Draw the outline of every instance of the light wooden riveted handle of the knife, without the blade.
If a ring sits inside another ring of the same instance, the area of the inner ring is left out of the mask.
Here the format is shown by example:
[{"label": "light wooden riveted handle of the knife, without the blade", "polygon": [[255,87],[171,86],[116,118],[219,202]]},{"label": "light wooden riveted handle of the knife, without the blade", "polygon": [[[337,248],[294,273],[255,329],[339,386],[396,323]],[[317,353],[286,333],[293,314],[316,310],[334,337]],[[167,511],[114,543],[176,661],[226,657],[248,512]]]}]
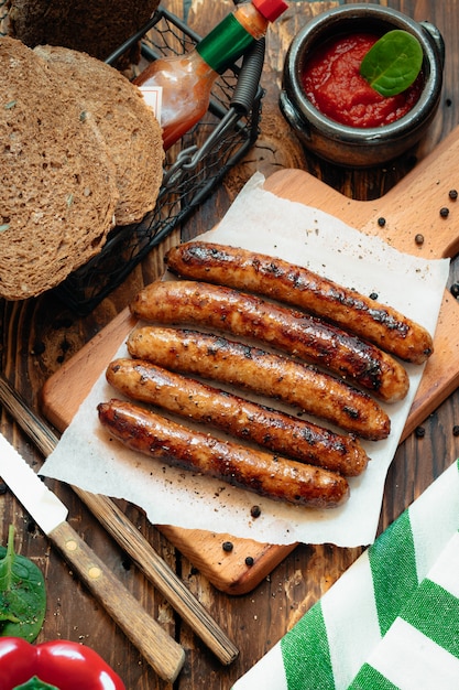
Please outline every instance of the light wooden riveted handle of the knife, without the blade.
[{"label": "light wooden riveted handle of the knife, without the blade", "polygon": [[174,682],[185,661],[183,647],[145,612],[68,522],[47,536],[156,673]]}]

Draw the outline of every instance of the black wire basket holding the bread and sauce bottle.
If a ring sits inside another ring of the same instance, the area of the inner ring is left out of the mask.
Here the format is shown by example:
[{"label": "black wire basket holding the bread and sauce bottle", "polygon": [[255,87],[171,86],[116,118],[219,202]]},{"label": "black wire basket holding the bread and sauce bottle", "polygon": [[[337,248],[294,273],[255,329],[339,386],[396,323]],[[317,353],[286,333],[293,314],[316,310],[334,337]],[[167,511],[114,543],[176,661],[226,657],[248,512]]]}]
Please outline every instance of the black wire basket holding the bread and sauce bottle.
[{"label": "black wire basket holding the bread and sauce bottle", "polygon": [[[107,62],[116,64],[139,41],[142,60],[152,62],[163,55],[189,52],[199,40],[184,22],[160,8]],[[207,115],[166,153],[155,208],[140,223],[113,228],[102,251],[53,290],[72,311],[86,315],[110,294],[153,247],[210,196],[252,148],[259,136],[263,61],[261,40],[240,64],[217,79]]]}]

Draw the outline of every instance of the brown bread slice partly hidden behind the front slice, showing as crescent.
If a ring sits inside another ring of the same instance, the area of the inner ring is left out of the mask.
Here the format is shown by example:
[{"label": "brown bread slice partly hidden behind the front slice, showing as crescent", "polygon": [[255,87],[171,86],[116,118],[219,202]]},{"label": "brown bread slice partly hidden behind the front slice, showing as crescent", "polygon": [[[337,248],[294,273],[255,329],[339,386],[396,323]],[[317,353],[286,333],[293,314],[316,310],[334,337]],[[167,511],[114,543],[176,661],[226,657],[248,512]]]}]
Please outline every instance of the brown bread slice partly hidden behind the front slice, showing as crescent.
[{"label": "brown bread slice partly hidden behind the front slice, showing as crescent", "polygon": [[160,123],[140,89],[117,69],[87,53],[39,45],[65,90],[91,112],[117,168],[117,225],[141,220],[156,203],[163,179]]}]

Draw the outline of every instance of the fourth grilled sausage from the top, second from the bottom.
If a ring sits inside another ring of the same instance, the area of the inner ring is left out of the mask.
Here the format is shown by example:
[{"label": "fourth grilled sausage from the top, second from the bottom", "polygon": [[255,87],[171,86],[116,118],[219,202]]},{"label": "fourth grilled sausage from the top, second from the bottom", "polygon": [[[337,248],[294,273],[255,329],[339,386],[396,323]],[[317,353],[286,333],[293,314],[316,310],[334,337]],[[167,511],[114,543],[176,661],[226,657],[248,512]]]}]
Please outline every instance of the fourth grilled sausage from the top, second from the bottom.
[{"label": "fourth grilled sausage from the top, second from the bottom", "polygon": [[345,476],[357,476],[367,467],[368,455],[352,435],[334,433],[149,362],[114,359],[106,375],[128,398],[209,424],[280,455]]}]

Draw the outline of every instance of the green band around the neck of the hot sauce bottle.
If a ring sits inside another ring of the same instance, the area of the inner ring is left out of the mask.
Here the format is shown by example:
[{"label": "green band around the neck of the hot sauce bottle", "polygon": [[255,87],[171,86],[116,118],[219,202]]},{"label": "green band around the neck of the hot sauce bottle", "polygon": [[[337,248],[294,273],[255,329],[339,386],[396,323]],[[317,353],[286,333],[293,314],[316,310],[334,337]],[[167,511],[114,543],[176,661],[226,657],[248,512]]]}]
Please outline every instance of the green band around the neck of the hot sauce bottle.
[{"label": "green band around the neck of the hot sauce bottle", "polygon": [[254,37],[229,14],[196,46],[201,58],[215,72],[222,73],[253,43]]}]

